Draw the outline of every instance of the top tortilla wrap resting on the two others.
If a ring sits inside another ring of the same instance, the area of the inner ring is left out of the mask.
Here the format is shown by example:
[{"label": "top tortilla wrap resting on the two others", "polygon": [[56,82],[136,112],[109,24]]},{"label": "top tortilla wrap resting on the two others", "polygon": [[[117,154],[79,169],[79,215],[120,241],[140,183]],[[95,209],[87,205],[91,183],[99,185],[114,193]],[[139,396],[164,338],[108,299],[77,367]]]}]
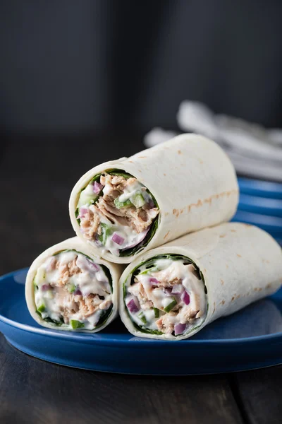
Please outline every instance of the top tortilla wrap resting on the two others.
[{"label": "top tortilla wrap resting on the two others", "polygon": [[[118,173],[127,182],[115,191]],[[230,220],[237,204],[238,182],[226,153],[203,136],[183,134],[94,167],[75,184],[69,209],[91,252],[126,264],[142,250]]]}]

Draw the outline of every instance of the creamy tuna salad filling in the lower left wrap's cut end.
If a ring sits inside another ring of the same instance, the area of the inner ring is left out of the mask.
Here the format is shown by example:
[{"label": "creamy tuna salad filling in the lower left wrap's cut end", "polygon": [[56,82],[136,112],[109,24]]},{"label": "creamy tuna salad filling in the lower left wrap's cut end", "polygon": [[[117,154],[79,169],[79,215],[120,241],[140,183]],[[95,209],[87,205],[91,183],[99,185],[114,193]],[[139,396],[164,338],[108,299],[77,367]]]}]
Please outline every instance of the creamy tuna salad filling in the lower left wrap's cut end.
[{"label": "creamy tuna salad filling in the lower left wrap's cut end", "polygon": [[34,278],[37,314],[70,329],[93,330],[113,308],[111,275],[106,266],[75,250],[44,261]]}]

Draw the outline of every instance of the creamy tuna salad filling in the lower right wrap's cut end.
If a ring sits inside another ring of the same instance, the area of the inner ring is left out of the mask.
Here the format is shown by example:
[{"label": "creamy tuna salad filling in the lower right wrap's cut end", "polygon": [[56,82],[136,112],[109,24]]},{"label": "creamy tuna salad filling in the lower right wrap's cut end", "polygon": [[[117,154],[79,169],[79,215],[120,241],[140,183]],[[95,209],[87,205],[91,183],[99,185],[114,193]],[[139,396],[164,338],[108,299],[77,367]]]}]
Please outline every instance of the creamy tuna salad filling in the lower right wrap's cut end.
[{"label": "creamy tuna salad filling in the lower right wrap's cut end", "polygon": [[161,255],[138,266],[123,285],[125,307],[142,332],[182,336],[207,315],[207,289],[186,257]]}]

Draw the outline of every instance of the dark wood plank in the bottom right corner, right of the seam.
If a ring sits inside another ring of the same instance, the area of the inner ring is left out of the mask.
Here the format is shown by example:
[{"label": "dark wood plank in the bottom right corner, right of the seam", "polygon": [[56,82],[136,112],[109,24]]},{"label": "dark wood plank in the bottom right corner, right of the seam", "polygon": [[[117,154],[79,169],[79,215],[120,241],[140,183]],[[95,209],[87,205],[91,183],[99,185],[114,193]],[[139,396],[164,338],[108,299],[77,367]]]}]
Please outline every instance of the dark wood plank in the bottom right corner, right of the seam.
[{"label": "dark wood plank in the bottom right corner, right of the seam", "polygon": [[233,376],[235,398],[250,424],[282,423],[282,365]]}]

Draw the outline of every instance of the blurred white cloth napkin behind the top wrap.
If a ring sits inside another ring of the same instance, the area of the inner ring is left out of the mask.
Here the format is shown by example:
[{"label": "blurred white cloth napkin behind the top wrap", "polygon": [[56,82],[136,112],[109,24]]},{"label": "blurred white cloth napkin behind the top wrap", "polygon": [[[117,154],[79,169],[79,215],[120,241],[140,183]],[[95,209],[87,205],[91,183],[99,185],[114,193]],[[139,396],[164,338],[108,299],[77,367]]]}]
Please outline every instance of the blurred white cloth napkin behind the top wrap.
[{"label": "blurred white cloth napkin behind the top wrap", "polygon": [[[282,129],[265,129],[243,119],[214,114],[206,105],[190,100],[180,104],[177,122],[180,130],[203,134],[219,143],[240,175],[282,182]],[[175,135],[152,129],[145,136],[145,146]]]}]

